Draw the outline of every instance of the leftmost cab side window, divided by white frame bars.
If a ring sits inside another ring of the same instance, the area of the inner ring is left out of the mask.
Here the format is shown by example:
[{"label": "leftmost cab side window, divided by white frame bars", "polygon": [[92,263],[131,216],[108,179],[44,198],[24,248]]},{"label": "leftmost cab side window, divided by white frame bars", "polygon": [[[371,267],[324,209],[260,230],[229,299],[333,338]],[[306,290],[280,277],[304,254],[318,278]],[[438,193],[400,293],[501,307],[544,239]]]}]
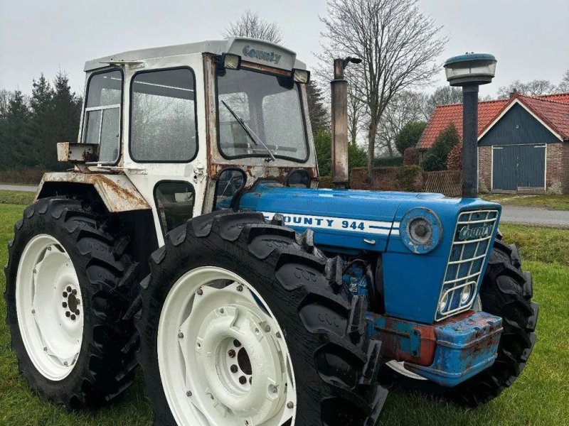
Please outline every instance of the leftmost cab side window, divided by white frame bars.
[{"label": "leftmost cab side window, divided by white frame bars", "polygon": [[122,73],[118,70],[93,75],[87,87],[83,142],[99,145],[99,161],[115,163],[120,151]]}]

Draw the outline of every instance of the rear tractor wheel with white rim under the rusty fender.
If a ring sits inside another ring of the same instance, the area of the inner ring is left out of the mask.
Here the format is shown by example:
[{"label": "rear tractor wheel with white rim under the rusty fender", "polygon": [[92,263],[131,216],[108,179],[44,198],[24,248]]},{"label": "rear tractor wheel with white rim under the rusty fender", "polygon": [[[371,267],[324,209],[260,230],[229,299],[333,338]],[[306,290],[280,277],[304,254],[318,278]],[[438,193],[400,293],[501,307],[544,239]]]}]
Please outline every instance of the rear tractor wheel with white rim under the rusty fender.
[{"label": "rear tractor wheel with white rim under the rusty fender", "polygon": [[50,197],[23,212],[8,246],[6,323],[31,389],[73,409],[134,381],[137,337],[124,317],[137,288],[128,240],[102,209]]}]

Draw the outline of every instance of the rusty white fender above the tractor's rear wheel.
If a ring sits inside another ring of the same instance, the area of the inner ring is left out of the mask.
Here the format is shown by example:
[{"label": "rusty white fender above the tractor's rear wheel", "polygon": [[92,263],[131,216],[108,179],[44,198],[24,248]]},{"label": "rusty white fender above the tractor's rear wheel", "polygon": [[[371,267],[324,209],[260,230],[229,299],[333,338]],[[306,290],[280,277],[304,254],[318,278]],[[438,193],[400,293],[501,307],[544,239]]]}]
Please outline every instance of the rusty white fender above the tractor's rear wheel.
[{"label": "rusty white fender above the tractor's rear wheel", "polygon": [[[97,190],[109,212],[130,212],[150,209],[150,204],[140,194],[125,175],[107,175],[102,173],[46,173],[43,175],[38,195],[43,185],[48,182],[69,182],[92,185]],[[36,195],[36,200],[38,199]]]}]

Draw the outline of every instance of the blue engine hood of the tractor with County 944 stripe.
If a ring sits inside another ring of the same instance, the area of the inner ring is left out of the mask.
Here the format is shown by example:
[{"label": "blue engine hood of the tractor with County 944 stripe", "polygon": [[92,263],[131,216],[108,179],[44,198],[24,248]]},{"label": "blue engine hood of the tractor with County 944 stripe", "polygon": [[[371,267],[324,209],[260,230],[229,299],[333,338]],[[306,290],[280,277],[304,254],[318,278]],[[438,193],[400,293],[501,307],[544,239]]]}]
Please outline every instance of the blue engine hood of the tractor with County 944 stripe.
[{"label": "blue engine hood of the tractor with County 944 stripe", "polygon": [[[415,207],[432,210],[442,226],[440,244],[426,254],[409,251],[400,236],[393,232],[399,227],[390,226],[393,222],[401,222],[403,215]],[[440,194],[316,190],[260,182],[252,192],[241,197],[240,209],[283,214],[285,224],[294,230],[304,232],[311,228],[314,244],[326,251],[353,256],[364,251],[381,252],[386,315],[432,324],[460,212],[474,209],[496,209],[500,212],[501,206],[479,199],[448,198]],[[305,224],[304,220],[295,223],[295,214],[312,216],[312,226]],[[344,221],[348,222],[346,228],[342,227]],[[361,221],[381,223],[366,223],[362,230]],[[353,224],[356,229],[351,227]]]}]

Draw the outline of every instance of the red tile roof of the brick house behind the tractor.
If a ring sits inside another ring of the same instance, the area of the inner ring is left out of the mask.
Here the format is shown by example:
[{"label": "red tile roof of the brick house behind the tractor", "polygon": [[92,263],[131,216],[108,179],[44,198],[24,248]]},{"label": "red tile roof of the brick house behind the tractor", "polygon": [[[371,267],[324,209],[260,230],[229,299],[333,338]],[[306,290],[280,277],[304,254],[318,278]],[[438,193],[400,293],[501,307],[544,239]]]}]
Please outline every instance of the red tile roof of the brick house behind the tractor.
[{"label": "red tile roof of the brick house behind the tractor", "polygon": [[[546,94],[538,97],[515,94],[510,99],[479,102],[478,134],[483,133],[516,99],[558,133],[563,140],[569,139],[569,93]],[[454,124],[462,138],[462,104],[438,105],[419,139],[417,148],[431,148],[439,133],[450,123]]]}]

